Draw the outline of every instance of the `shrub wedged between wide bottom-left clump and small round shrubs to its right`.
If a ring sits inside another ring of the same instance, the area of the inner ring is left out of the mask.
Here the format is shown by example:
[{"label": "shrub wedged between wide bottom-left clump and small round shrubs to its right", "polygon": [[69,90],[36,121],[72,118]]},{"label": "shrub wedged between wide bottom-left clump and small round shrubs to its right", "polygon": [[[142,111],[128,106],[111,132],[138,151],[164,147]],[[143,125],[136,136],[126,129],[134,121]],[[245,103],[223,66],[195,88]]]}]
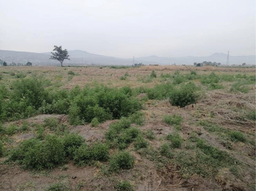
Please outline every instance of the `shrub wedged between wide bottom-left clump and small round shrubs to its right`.
[{"label": "shrub wedged between wide bottom-left clump and small round shrubs to its right", "polygon": [[66,151],[66,155],[72,158],[74,152],[84,142],[85,142],[85,139],[82,138],[82,136],[79,134],[71,133],[71,134],[64,135],[63,146],[64,146],[64,150]]}]

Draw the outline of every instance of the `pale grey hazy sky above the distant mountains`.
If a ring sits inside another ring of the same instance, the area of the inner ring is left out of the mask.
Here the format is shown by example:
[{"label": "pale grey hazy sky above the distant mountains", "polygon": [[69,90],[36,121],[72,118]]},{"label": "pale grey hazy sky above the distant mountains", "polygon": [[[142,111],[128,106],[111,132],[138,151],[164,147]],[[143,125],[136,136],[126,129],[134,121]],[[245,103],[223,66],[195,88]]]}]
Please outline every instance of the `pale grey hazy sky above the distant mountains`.
[{"label": "pale grey hazy sky above the distant mountains", "polygon": [[255,54],[255,0],[0,0],[0,49],[115,57]]}]

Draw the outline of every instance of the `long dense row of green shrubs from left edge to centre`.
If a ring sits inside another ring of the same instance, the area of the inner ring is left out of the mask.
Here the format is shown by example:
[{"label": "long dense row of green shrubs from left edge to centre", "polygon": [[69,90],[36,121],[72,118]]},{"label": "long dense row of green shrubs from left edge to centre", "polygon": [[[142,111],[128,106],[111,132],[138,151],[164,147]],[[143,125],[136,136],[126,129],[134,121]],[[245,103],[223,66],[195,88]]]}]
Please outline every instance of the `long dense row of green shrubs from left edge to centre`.
[{"label": "long dense row of green shrubs from left edge to centre", "polygon": [[36,113],[69,114],[72,124],[99,122],[129,116],[141,109],[129,87],[96,86],[51,91],[43,80],[23,78],[11,89],[0,86],[0,121],[30,117]]}]

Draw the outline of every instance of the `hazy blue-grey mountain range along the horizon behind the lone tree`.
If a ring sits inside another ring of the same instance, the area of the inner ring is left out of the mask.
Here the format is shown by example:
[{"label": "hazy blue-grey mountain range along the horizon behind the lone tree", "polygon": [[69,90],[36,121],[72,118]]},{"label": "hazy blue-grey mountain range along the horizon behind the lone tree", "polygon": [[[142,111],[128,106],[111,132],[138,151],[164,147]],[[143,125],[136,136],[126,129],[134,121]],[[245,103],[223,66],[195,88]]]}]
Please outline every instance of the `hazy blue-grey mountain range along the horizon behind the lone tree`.
[{"label": "hazy blue-grey mountain range along the horizon behind the lone tree", "polygon": [[[64,61],[64,66],[67,65],[132,65],[133,59],[115,58],[109,56],[102,56],[98,54],[88,53],[82,50],[68,50],[71,60]],[[58,61],[49,60],[51,53],[32,53],[32,52],[17,52],[10,50],[0,50],[0,60],[7,63],[27,63],[32,62],[33,65],[39,66],[51,66],[59,65]],[[214,53],[205,57],[139,57],[135,58],[135,63],[143,63],[145,65],[157,64],[157,65],[193,65],[194,62],[220,62],[222,65],[226,64],[227,54]],[[230,65],[255,65],[255,56],[229,56]]]}]

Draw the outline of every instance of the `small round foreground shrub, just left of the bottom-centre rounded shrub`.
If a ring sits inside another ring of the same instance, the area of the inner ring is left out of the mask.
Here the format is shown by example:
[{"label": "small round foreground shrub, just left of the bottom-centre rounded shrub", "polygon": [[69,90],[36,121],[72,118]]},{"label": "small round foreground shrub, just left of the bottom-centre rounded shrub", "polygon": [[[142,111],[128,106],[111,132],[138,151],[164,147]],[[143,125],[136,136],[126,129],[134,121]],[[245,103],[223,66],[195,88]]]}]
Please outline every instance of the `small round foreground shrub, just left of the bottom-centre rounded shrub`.
[{"label": "small round foreground shrub, just left of the bottom-centre rounded shrub", "polygon": [[94,160],[106,161],[109,158],[109,147],[104,143],[94,143],[91,156]]}]

